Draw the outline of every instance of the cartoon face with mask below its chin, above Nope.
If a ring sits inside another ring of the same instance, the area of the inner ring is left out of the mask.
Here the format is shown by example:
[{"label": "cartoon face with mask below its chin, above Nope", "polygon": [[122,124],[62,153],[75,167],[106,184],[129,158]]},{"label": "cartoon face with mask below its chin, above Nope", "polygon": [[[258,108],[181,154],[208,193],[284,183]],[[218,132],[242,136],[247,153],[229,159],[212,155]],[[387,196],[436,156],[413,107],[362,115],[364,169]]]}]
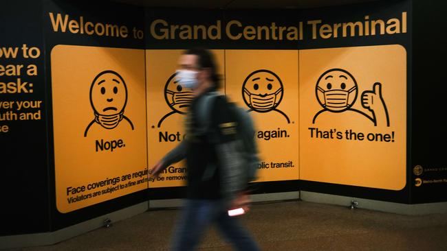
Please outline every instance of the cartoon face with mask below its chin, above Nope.
[{"label": "cartoon face with mask below its chin, above Nope", "polygon": [[127,103],[127,87],[115,71],[102,71],[90,86],[90,103],[96,122],[102,127],[115,128],[122,119]]}]

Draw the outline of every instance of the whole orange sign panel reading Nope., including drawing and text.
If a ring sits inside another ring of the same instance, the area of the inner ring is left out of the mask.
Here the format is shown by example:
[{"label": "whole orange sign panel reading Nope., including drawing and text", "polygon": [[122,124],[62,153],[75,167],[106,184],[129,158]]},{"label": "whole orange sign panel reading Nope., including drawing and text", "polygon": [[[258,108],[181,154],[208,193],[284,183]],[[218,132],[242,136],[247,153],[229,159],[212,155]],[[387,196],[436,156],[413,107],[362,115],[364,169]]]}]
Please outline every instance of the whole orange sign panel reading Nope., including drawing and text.
[{"label": "whole orange sign panel reading Nope., including drawing and text", "polygon": [[146,189],[144,50],[58,45],[51,66],[58,211]]}]

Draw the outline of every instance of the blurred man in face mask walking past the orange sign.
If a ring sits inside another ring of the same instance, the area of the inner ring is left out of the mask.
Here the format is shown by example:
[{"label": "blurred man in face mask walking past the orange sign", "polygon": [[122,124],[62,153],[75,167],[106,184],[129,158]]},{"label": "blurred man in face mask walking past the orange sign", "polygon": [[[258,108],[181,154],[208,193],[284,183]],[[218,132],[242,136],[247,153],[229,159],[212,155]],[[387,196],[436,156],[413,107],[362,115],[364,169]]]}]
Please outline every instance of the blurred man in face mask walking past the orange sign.
[{"label": "blurred man in face mask walking past the orange sign", "polygon": [[179,58],[177,80],[194,93],[186,117],[186,138],[151,169],[151,175],[156,177],[172,163],[186,158],[186,202],[172,249],[194,250],[206,228],[216,224],[236,250],[259,250],[239,219],[228,215],[233,208],[248,211],[250,200],[244,193],[247,184],[240,177],[241,160],[237,153],[240,142],[230,103],[223,95],[210,103],[206,101],[219,88],[212,53],[206,49],[185,51]]}]

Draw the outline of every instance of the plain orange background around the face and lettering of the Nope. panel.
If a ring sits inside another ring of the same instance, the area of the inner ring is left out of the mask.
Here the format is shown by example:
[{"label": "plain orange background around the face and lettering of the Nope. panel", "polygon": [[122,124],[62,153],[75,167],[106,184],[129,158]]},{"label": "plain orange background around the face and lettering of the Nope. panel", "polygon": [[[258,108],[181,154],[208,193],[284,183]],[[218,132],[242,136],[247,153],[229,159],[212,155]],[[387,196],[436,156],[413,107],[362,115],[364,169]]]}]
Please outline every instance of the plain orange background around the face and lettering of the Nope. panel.
[{"label": "plain orange background around the face and lettering of the Nope. panel", "polygon": [[[146,168],[144,50],[58,45],[52,49],[51,64],[58,211],[67,213],[146,189],[148,185],[144,182],[72,204],[67,202],[67,198],[76,197],[67,196],[67,187],[87,187],[91,182],[132,174]],[[91,82],[105,70],[119,73],[127,85],[128,99],[124,115],[132,121],[134,130],[129,129],[123,119],[112,130],[95,123],[87,137],[84,137],[87,125],[94,119],[89,98]],[[113,152],[96,152],[96,140],[101,139],[122,139],[125,147],[116,148]],[[139,179],[132,179],[136,180]],[[127,181],[120,182],[125,183]],[[115,186],[106,185],[77,195],[87,195],[107,187]]]}]

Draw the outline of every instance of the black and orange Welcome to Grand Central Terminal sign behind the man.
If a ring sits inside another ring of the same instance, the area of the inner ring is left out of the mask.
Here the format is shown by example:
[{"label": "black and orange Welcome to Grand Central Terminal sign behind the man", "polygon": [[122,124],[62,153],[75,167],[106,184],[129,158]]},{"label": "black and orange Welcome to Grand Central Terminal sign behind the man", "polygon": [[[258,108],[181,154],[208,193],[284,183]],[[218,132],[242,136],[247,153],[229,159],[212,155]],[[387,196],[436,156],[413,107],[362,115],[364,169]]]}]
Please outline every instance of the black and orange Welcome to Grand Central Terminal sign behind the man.
[{"label": "black and orange Welcome to Grand Central Terminal sign behind the man", "polygon": [[193,95],[175,72],[191,47],[212,50],[221,92],[254,119],[265,191],[297,180],[402,191],[409,9],[382,8],[146,9],[140,21],[50,8],[58,211],[185,185],[184,162],[148,172],[184,140]]}]

